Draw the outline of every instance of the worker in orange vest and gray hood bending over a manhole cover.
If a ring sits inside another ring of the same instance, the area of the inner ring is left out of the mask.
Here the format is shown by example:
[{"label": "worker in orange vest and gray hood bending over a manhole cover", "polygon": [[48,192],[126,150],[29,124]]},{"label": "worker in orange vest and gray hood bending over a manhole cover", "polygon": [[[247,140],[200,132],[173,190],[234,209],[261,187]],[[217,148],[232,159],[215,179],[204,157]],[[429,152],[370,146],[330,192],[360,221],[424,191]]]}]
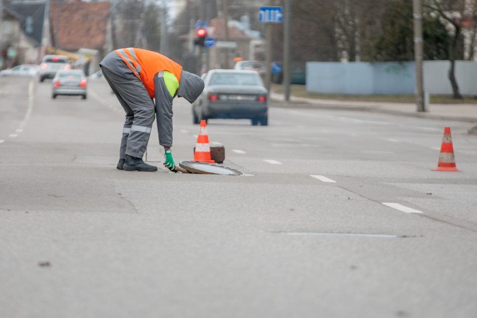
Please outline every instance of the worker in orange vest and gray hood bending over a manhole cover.
[{"label": "worker in orange vest and gray hood bending over a manhole cover", "polygon": [[177,172],[171,152],[172,101],[179,96],[192,103],[202,93],[202,79],[162,54],[137,48],[115,50],[99,65],[126,112],[117,168],[128,171],[157,170],[156,166],[142,159],[154,114],[157,114],[157,132],[159,144],[164,147],[164,165]]}]

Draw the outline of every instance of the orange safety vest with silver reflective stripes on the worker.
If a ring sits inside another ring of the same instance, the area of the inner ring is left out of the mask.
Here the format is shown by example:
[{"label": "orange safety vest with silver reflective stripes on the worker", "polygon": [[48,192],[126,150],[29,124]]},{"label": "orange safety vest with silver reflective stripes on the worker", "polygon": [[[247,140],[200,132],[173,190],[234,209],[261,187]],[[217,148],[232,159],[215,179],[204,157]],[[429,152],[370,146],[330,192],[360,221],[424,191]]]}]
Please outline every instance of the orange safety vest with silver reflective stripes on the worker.
[{"label": "orange safety vest with silver reflective stripes on the worker", "polygon": [[137,48],[119,49],[115,52],[123,59],[134,75],[143,82],[151,98],[155,97],[154,76],[157,73],[167,70],[167,72],[174,74],[177,82],[181,80],[182,66],[167,56]]}]

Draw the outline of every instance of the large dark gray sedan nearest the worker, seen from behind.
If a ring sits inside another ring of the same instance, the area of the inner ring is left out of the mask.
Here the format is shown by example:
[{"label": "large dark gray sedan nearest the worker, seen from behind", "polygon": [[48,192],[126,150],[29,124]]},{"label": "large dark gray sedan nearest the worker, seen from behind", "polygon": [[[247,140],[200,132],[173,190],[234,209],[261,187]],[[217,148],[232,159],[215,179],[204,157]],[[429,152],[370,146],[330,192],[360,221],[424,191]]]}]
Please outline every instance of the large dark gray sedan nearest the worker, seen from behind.
[{"label": "large dark gray sedan nearest the worker, seen from behind", "polygon": [[193,122],[211,118],[250,119],[268,125],[268,91],[253,70],[213,69],[205,88],[192,104]]}]

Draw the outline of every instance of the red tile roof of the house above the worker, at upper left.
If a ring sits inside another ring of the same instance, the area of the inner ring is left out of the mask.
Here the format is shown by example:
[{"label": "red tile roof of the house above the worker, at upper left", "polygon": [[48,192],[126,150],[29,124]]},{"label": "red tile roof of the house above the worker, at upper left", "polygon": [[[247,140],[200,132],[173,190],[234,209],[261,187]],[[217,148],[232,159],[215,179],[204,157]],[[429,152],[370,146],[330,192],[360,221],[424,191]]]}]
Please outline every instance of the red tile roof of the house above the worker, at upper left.
[{"label": "red tile roof of the house above the worker, at upper left", "polygon": [[59,25],[57,48],[98,50],[105,47],[111,6],[109,2],[62,1],[58,7],[58,21],[56,20],[57,6],[58,2],[51,2],[50,21],[53,39],[57,36],[56,24]]}]

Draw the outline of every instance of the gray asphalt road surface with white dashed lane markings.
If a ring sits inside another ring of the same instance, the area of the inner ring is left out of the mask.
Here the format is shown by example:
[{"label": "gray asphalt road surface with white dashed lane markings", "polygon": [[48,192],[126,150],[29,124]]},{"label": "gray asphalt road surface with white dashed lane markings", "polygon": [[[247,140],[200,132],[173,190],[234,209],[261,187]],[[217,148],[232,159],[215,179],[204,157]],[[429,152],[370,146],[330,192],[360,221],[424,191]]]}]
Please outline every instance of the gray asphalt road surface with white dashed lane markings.
[{"label": "gray asphalt road surface with white dashed lane markings", "polygon": [[[210,120],[251,175],[168,172],[155,128],[160,169],[127,172],[106,82],[53,100],[0,78],[0,317],[475,317],[471,124],[289,106]],[[192,159],[199,127],[174,111]],[[431,171],[444,126],[462,172]]]}]

